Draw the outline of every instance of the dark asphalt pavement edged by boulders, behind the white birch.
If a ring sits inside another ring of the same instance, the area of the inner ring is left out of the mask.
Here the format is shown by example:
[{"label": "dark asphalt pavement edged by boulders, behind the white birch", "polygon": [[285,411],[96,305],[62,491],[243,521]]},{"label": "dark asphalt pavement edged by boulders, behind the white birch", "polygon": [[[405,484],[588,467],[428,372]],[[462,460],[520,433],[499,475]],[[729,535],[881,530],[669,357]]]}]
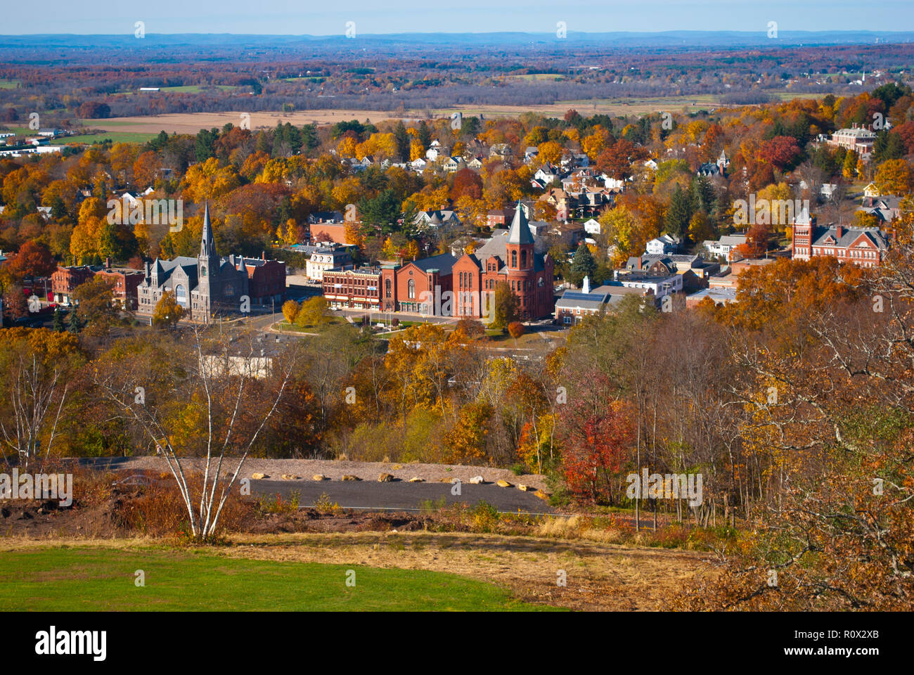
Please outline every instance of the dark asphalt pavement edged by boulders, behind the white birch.
[{"label": "dark asphalt pavement edged by boulders, behind the white birch", "polygon": [[409,483],[393,481],[338,481],[338,480],[251,480],[251,491],[259,495],[281,494],[288,497],[292,490],[301,493],[299,504],[310,507],[321,496],[327,496],[344,508],[367,510],[418,510],[427,499],[444,498],[448,504],[464,502],[477,504],[481,499],[500,511],[516,513],[552,513],[553,509],[533,492],[517,488],[499,488],[494,484],[472,485],[462,483],[461,494],[452,495],[450,483]]}]

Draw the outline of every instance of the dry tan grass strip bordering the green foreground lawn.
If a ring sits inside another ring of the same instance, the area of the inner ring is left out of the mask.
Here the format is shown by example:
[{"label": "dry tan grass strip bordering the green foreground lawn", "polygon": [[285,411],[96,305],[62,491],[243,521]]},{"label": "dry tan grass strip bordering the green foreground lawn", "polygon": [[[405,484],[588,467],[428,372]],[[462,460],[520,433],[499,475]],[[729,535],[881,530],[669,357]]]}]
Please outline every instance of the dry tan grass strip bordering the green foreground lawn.
[{"label": "dry tan grass strip bordering the green foreground lawn", "polygon": [[[593,536],[596,536],[594,534]],[[525,602],[579,610],[664,610],[707,573],[697,552],[492,534],[348,532],[235,535],[229,556],[363,564],[462,574],[511,588]],[[567,585],[558,586],[564,570]]]}]

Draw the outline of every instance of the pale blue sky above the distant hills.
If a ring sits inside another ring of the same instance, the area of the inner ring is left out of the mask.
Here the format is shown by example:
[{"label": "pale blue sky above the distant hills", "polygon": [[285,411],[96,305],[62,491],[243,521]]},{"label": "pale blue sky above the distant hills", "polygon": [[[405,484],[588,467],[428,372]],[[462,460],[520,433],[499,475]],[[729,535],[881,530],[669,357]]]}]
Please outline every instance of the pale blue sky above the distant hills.
[{"label": "pale blue sky above the distant hills", "polygon": [[[344,8],[341,8],[344,7]],[[0,34],[914,30],[912,0],[44,0],[5,3]]]}]

